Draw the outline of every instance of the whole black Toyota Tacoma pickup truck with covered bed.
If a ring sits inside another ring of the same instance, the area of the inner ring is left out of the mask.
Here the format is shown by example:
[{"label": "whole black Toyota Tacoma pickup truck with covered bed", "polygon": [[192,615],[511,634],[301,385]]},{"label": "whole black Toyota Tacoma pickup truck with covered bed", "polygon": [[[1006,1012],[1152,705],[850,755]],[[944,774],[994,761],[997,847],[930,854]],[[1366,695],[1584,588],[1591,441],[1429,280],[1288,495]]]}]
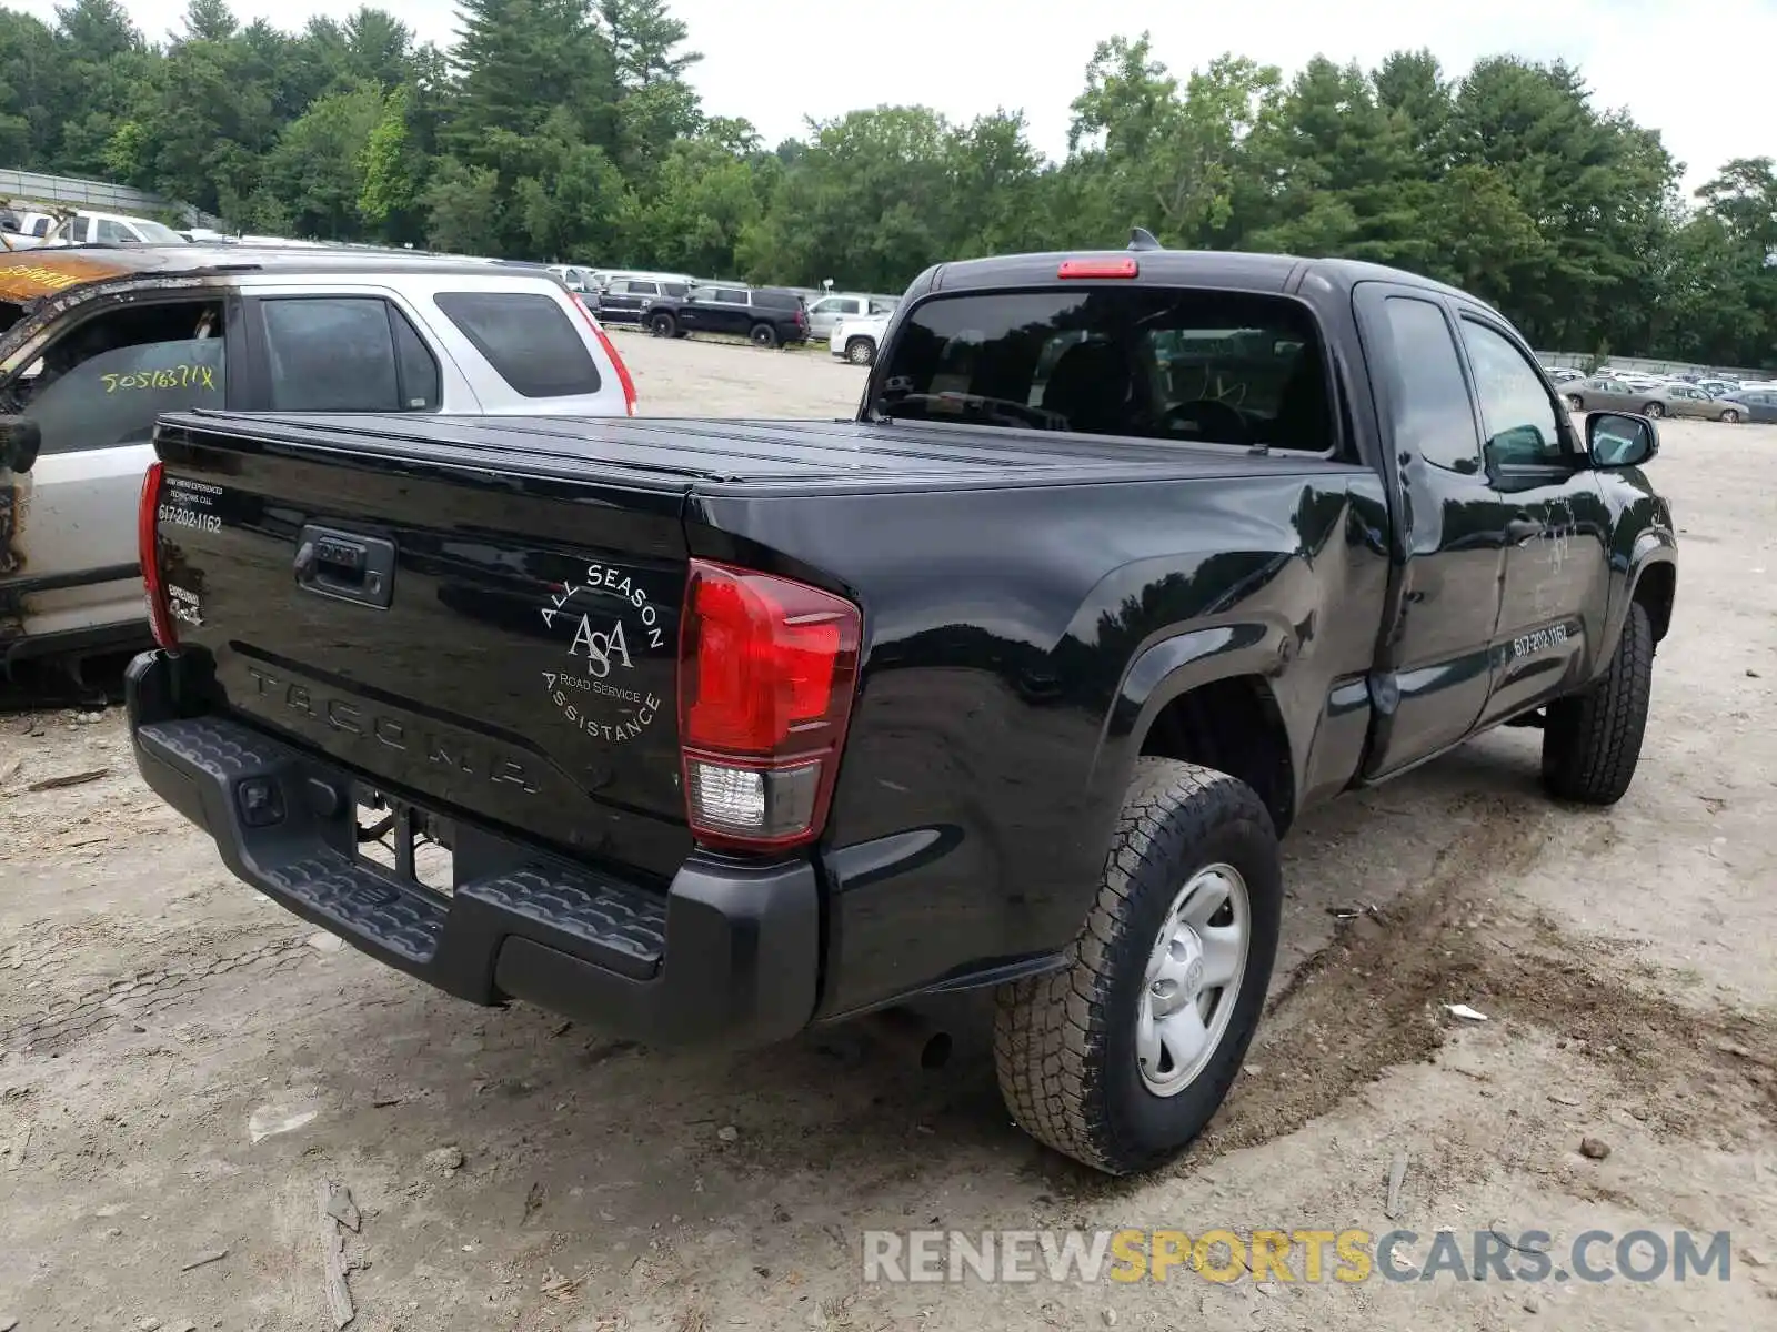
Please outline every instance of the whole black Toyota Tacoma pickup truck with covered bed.
[{"label": "whole black Toyota Tacoma pickup truck with covered bed", "polygon": [[1388,268],[947,263],[855,421],[178,414],[149,785],[476,1003],[761,1044],[993,987],[1016,1121],[1166,1160],[1278,838],[1498,725],[1608,805],[1672,620],[1654,424]]}]

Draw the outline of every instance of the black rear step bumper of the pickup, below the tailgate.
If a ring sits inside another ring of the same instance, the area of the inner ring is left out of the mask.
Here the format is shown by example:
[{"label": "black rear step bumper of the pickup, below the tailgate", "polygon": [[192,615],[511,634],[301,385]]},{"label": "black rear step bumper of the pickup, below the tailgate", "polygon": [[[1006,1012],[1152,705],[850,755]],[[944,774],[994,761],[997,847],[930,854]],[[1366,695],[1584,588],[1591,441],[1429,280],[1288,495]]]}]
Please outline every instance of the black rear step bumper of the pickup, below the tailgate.
[{"label": "black rear step bumper of the pickup, below the tailgate", "polygon": [[355,854],[355,774],[226,716],[179,718],[176,670],[146,652],[126,675],[144,780],[304,920],[474,1003],[522,998],[650,1044],[768,1044],[809,1023],[821,934],[807,861],[693,856],[663,895],[455,821],[444,899]]}]

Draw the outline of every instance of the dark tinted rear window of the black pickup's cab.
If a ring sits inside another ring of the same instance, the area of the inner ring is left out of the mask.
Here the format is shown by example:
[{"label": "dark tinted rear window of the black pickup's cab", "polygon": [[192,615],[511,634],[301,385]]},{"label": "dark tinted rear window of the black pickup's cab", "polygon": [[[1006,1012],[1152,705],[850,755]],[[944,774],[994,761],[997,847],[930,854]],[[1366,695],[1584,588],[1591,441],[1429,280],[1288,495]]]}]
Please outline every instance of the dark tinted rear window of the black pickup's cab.
[{"label": "dark tinted rear window of the black pickup's cab", "polygon": [[1279,297],[1080,288],[936,297],[894,341],[871,410],[1095,435],[1333,446],[1320,337]]}]

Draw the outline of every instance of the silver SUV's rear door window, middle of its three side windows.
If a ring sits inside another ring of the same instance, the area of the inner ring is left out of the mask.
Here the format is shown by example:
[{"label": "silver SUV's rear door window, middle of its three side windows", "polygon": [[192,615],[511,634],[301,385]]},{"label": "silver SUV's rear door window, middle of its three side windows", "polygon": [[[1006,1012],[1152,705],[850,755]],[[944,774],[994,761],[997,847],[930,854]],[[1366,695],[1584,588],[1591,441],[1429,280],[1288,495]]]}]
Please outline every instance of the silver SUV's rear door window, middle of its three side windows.
[{"label": "silver SUV's rear door window, middle of its three side windows", "polygon": [[437,362],[380,297],[272,297],[259,313],[274,412],[437,408]]}]

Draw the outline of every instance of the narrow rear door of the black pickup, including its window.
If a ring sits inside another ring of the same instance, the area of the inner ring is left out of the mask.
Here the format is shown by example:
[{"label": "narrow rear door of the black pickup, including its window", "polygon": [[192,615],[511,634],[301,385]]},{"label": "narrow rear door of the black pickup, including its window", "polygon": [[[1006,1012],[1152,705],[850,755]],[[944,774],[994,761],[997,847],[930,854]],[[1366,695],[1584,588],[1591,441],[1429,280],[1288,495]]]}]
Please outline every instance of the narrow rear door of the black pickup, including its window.
[{"label": "narrow rear door of the black pickup, including its window", "polygon": [[1377,719],[1363,778],[1374,780],[1455,744],[1487,705],[1505,515],[1443,300],[1359,282],[1354,304],[1395,472],[1400,561],[1370,678]]}]

